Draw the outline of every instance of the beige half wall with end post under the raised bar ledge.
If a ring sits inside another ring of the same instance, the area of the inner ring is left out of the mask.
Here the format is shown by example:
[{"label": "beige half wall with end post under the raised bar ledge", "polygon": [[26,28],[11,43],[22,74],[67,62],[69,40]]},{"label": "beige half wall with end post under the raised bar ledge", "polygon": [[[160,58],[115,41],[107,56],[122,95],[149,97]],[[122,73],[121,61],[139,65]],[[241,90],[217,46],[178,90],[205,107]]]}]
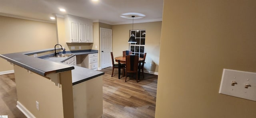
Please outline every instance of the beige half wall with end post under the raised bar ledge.
[{"label": "beige half wall with end post under the raised bar ledge", "polygon": [[[51,78],[46,78],[18,65],[14,65],[14,69],[18,102],[36,118],[74,118],[71,71],[54,73]],[[60,87],[50,80],[57,80],[58,75]]]}]

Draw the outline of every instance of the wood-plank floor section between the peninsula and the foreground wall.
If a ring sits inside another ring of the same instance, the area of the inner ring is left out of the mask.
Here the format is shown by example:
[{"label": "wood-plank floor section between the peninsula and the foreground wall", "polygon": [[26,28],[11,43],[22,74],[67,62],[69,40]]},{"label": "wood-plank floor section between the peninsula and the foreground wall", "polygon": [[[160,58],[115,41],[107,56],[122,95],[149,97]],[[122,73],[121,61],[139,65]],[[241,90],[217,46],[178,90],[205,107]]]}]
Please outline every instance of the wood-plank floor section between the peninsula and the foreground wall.
[{"label": "wood-plank floor section between the peninsula and the foreground wall", "polygon": [[[102,118],[154,118],[156,109],[157,75],[140,74],[140,82],[132,78],[125,83],[125,77],[118,79],[118,69],[112,67],[100,70],[103,76]],[[132,76],[131,76],[132,77]]]}]

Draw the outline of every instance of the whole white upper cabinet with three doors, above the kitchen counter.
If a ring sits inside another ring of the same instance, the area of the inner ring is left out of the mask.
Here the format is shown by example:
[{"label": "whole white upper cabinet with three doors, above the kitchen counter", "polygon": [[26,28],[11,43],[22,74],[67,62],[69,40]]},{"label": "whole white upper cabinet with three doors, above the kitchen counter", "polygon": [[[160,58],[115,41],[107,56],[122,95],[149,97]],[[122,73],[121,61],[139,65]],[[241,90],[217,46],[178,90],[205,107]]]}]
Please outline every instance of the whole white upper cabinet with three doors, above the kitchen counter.
[{"label": "whole white upper cabinet with three doors, above the kitchen counter", "polygon": [[67,43],[93,43],[92,20],[65,15]]}]

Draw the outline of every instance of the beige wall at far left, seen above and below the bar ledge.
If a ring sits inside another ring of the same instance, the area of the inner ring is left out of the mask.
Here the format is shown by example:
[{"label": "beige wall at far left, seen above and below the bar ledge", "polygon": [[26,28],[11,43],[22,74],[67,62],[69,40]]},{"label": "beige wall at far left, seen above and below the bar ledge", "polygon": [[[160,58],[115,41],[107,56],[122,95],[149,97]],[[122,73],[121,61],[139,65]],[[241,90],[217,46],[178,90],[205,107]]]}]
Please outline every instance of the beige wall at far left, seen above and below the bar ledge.
[{"label": "beige wall at far left, seen above and below the bar ledge", "polygon": [[[53,48],[56,25],[46,22],[0,16],[0,54]],[[0,72],[13,70],[0,58]]]}]

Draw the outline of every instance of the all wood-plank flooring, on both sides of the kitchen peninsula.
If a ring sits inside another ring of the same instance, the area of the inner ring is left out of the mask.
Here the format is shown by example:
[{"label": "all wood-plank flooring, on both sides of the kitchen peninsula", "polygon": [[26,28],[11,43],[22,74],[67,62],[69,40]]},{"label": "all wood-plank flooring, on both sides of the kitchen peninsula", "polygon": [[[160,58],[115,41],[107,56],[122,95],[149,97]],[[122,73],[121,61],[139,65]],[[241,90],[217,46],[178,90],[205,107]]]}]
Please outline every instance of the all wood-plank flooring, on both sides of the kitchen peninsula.
[{"label": "all wood-plank flooring, on both sides of the kitchen peninsula", "polygon": [[[145,73],[143,79],[125,77],[118,79],[118,69],[112,67],[100,70],[103,75],[102,118],[154,118],[156,108],[157,75]],[[131,76],[132,77],[132,76]],[[17,94],[14,73],[0,75],[0,115],[8,118],[26,118],[16,107]]]}]

